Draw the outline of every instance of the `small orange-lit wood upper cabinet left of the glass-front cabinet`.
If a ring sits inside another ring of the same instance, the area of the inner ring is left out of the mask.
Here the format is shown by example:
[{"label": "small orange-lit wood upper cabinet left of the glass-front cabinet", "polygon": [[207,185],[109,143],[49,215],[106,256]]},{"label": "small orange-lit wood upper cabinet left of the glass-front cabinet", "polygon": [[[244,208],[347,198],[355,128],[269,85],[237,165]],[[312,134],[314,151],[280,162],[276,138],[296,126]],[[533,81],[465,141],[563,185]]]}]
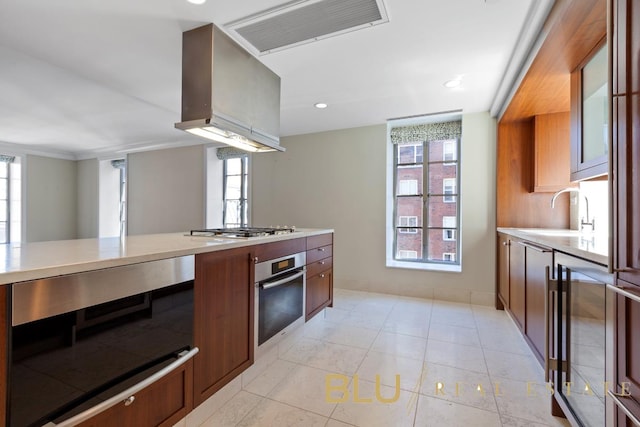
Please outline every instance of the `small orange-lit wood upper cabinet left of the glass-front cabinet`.
[{"label": "small orange-lit wood upper cabinet left of the glass-front cabinet", "polygon": [[534,117],[534,192],[555,192],[571,186],[570,114]]}]

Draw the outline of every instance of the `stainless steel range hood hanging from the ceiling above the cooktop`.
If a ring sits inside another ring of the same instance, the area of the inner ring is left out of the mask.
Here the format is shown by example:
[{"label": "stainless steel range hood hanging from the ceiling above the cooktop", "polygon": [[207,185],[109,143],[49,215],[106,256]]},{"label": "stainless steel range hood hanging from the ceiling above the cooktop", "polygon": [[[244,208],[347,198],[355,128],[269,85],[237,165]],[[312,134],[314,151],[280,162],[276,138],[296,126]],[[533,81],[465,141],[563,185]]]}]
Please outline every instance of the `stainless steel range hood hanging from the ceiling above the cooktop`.
[{"label": "stainless steel range hood hanging from the ceiling above the cooktop", "polygon": [[175,127],[247,151],[285,151],[280,77],[213,24],[185,31]]}]

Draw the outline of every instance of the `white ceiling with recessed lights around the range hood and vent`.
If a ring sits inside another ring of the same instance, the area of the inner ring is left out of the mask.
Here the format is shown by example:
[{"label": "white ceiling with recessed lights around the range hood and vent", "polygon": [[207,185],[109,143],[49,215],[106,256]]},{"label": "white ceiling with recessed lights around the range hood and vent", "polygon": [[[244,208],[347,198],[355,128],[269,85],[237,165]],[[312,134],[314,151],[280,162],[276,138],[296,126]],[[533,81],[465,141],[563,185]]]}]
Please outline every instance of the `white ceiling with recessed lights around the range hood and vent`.
[{"label": "white ceiling with recessed lights around the range hood and vent", "polygon": [[[83,158],[196,142],[173,126],[182,32],[285,1],[0,0],[0,148]],[[281,134],[495,115],[552,3],[385,0],[388,23],[263,55],[282,79]]]}]

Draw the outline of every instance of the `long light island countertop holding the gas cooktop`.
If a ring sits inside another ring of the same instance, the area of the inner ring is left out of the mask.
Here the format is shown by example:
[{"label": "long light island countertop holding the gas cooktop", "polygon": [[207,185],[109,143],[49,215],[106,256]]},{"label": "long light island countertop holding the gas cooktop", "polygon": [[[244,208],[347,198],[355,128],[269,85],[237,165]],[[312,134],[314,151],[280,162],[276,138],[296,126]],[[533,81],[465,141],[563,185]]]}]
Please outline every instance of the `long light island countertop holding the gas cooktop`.
[{"label": "long light island countertop holding the gas cooktop", "polygon": [[296,229],[291,234],[228,238],[187,236],[185,233],[147,234],[123,239],[58,240],[0,245],[0,284],[36,280],[102,268],[185,255],[259,245],[332,233],[330,229]]}]

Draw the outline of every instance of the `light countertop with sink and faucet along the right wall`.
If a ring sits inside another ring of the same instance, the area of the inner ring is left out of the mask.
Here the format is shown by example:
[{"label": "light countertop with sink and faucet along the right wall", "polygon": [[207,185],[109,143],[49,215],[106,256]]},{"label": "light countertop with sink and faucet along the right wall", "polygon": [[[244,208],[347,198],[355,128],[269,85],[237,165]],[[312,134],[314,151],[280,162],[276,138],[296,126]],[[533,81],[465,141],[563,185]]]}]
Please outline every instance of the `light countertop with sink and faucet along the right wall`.
[{"label": "light countertop with sink and faucet along the right wall", "polygon": [[503,227],[498,227],[498,232],[588,261],[609,265],[609,236],[606,234],[583,233],[578,230]]}]

